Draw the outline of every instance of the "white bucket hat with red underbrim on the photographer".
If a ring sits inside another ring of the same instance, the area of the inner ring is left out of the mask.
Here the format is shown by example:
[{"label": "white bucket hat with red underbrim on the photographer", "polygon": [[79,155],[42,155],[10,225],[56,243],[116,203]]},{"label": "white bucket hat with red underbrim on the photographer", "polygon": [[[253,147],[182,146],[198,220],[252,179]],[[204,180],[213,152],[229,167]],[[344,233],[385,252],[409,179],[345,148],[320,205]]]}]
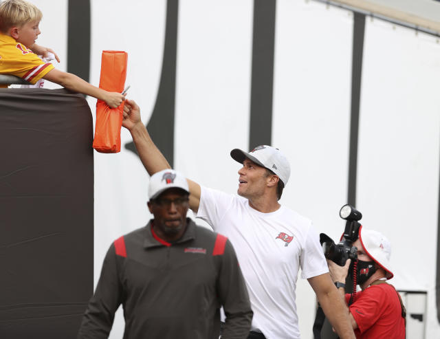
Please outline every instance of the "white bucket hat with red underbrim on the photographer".
[{"label": "white bucket hat with red underbrim on the photographer", "polygon": [[366,230],[362,226],[359,230],[359,240],[366,254],[385,270],[386,278],[393,278],[394,274],[390,264],[391,243],[384,234],[373,230]]}]

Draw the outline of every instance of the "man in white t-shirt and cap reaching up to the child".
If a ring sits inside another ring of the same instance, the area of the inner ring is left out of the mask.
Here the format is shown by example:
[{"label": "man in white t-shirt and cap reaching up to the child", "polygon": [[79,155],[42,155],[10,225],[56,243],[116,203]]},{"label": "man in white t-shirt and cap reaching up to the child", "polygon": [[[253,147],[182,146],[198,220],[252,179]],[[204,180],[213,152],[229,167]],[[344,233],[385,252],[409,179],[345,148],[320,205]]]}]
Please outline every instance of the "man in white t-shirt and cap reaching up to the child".
[{"label": "man in white t-shirt and cap reaching up to the child", "polygon": [[[129,129],[150,175],[170,168],[140,119],[140,109],[126,100],[122,125]],[[296,280],[301,267],[341,339],[354,339],[347,306],[333,285],[318,233],[309,219],[278,203],[290,175],[283,154],[271,146],[250,153],[234,149],[243,164],[237,195],[199,186],[187,179],[190,208],[228,237],[245,277],[254,318],[249,338],[300,338]]]}]

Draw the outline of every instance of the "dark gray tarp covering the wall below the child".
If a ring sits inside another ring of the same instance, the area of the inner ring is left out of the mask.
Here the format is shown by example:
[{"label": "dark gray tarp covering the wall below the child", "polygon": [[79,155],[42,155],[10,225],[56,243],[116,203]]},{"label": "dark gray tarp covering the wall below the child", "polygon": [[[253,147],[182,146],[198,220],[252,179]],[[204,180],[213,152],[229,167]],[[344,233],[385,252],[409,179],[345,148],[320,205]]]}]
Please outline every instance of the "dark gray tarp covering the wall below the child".
[{"label": "dark gray tarp covering the wall below the child", "polygon": [[93,294],[91,111],[0,89],[0,338],[75,338]]}]

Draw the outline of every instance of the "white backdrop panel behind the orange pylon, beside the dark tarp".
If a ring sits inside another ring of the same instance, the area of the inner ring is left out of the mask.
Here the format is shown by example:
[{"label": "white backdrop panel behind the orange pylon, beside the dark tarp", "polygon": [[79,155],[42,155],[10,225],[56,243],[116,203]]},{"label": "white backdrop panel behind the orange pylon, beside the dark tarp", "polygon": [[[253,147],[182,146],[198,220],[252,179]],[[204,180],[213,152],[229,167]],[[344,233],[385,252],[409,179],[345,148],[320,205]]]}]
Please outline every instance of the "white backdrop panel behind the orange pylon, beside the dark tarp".
[{"label": "white backdrop panel behind the orange pylon, beside the dark tarp", "polygon": [[[127,98],[142,108],[148,122],[156,100],[162,70],[166,22],[166,1],[93,0],[91,1],[90,82],[99,84],[102,50],[128,52]],[[96,100],[89,98],[91,111]],[[150,218],[146,208],[148,174],[137,155],[124,149],[131,141],[121,133],[121,152],[95,152],[95,285],[109,245],[122,234],[140,228]],[[124,318],[118,309],[109,338],[122,338]]]}]

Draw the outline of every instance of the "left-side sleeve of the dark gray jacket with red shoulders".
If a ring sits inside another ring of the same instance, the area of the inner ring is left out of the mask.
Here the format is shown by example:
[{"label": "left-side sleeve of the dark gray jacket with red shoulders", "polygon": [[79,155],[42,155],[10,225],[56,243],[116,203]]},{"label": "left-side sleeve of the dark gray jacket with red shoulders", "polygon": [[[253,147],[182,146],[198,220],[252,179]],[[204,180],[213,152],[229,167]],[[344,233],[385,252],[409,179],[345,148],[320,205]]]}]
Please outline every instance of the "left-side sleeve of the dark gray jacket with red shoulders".
[{"label": "left-side sleeve of the dark gray jacket with red shoulders", "polygon": [[101,276],[95,294],[83,316],[78,339],[108,338],[115,311],[122,300],[122,286],[118,277],[118,258],[112,244],[102,264]]}]

